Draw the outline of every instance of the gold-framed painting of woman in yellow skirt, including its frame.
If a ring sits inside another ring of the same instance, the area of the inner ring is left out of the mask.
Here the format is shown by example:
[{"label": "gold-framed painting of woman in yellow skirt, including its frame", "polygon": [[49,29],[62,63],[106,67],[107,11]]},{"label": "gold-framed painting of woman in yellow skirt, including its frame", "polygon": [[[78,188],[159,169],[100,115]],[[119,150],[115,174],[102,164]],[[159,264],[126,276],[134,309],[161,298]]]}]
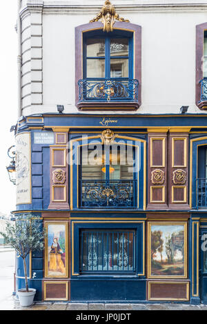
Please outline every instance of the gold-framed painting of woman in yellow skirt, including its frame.
[{"label": "gold-framed painting of woman in yellow skirt, including its frame", "polygon": [[45,278],[68,278],[68,222],[45,221]]}]

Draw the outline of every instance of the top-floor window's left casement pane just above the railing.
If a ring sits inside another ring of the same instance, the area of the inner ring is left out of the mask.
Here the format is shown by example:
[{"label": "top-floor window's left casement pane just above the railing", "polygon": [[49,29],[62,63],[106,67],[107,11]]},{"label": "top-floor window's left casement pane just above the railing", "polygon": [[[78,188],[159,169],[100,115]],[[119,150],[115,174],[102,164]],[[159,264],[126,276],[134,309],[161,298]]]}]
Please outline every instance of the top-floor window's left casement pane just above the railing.
[{"label": "top-floor window's left casement pane just above the railing", "polygon": [[87,78],[105,78],[104,59],[87,59]]}]

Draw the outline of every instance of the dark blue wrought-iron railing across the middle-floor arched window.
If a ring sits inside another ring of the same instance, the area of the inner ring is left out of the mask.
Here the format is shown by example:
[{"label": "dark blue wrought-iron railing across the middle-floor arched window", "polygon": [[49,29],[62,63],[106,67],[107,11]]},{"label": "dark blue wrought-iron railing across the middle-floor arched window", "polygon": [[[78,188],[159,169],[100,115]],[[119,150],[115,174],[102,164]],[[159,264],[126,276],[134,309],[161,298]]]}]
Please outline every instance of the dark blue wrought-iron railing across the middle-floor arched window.
[{"label": "dark blue wrought-iron railing across the middle-floor arched window", "polygon": [[80,180],[81,207],[135,207],[135,180]]}]

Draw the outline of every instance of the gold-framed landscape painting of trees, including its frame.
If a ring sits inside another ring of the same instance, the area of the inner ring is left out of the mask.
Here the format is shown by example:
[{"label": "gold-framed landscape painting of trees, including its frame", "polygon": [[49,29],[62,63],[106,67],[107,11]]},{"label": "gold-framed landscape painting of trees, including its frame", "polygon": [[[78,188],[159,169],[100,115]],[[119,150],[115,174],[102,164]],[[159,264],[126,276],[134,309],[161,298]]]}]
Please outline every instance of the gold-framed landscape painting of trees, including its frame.
[{"label": "gold-framed landscape painting of trees, including its frame", "polygon": [[187,223],[148,223],[148,278],[187,278]]}]

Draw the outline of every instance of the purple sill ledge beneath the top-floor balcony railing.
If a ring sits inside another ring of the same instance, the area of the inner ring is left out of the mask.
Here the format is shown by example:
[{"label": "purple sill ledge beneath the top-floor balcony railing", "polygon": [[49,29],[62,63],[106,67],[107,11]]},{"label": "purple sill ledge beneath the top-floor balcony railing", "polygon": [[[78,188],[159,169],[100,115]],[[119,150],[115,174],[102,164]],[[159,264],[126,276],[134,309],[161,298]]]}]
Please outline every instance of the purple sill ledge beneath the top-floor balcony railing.
[{"label": "purple sill ledge beneath the top-floor balcony railing", "polygon": [[[207,105],[207,103],[206,103]],[[139,103],[135,101],[109,101],[109,102],[79,102],[77,103],[79,110],[137,110]],[[207,109],[207,107],[206,107]]]}]

